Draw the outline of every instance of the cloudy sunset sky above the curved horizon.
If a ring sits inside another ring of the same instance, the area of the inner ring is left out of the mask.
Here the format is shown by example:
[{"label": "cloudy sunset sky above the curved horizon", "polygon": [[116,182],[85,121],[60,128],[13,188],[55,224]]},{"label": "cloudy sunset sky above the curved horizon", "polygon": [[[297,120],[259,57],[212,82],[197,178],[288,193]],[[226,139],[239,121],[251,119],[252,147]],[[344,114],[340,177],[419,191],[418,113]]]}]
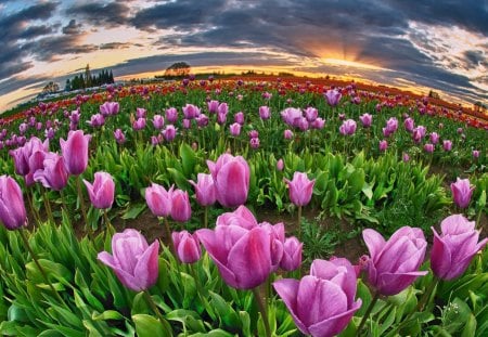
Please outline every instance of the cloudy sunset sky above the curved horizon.
[{"label": "cloudy sunset sky above the curved horizon", "polygon": [[488,0],[0,0],[0,112],[87,64],[344,76],[488,104]]}]

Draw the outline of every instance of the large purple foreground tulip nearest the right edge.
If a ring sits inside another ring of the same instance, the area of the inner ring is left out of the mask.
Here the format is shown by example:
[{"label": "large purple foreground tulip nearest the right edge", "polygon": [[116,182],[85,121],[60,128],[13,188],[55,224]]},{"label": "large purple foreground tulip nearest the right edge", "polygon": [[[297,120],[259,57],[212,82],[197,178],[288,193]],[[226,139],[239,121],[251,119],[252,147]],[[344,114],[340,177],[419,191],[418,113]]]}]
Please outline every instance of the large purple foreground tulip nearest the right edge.
[{"label": "large purple foreground tulip nearest the right edge", "polygon": [[473,257],[488,243],[478,243],[479,232],[475,222],[462,215],[449,216],[440,223],[441,233],[434,232],[434,246],[431,252],[431,267],[434,274],[442,280],[453,280],[467,269]]}]

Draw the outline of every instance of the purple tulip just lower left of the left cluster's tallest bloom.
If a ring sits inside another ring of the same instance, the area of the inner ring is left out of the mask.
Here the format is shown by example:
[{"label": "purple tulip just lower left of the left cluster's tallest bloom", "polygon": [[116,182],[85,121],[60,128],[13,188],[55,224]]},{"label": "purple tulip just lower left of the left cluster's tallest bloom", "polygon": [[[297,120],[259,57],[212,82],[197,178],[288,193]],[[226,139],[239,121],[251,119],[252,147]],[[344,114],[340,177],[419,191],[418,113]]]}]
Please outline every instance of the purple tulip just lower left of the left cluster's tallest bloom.
[{"label": "purple tulip just lower left of the left cluster's tallest bloom", "polygon": [[55,153],[48,153],[42,165],[43,168],[36,170],[34,173],[34,180],[42,183],[47,189],[63,190],[68,180],[64,158]]}]

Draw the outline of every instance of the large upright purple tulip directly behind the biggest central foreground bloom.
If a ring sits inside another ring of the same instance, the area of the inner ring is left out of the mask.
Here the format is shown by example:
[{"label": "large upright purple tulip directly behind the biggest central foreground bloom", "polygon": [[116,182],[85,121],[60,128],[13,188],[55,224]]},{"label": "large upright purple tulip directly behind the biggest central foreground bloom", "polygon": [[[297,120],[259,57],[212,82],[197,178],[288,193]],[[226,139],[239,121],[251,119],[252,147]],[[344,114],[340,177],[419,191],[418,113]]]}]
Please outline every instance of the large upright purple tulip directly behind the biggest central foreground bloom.
[{"label": "large upright purple tulip directly behind the biggest central foreground bloom", "polygon": [[214,178],[217,200],[224,207],[243,205],[249,191],[251,169],[242,156],[221,155],[216,163],[207,160]]}]

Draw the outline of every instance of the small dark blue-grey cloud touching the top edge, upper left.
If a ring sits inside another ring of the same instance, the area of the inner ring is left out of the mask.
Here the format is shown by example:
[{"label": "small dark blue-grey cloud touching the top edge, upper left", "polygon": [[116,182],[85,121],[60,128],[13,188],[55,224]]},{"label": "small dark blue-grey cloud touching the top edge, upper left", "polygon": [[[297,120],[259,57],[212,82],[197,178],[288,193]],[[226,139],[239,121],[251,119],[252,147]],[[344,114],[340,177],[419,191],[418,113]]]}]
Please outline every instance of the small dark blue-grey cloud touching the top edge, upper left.
[{"label": "small dark blue-grey cloud touching the top edge, upper left", "polygon": [[127,23],[129,8],[120,2],[89,2],[75,5],[67,11],[68,15],[82,17],[90,24],[100,27],[116,27]]}]

